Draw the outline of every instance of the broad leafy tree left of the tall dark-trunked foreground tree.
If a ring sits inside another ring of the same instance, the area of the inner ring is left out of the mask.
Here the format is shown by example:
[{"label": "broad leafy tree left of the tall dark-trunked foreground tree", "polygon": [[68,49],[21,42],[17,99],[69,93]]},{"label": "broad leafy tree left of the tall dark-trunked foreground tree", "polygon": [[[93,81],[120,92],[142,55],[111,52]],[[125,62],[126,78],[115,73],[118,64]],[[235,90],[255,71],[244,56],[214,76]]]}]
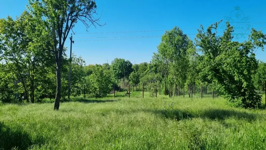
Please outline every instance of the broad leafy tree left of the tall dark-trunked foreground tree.
[{"label": "broad leafy tree left of the tall dark-trunked foreground tree", "polygon": [[9,16],[6,20],[1,19],[0,40],[3,42],[0,55],[16,77],[22,79],[26,99],[30,91],[31,102],[34,103],[41,76],[53,59],[48,53],[51,44],[40,40],[40,31],[32,22],[33,17],[27,11],[15,21]]}]

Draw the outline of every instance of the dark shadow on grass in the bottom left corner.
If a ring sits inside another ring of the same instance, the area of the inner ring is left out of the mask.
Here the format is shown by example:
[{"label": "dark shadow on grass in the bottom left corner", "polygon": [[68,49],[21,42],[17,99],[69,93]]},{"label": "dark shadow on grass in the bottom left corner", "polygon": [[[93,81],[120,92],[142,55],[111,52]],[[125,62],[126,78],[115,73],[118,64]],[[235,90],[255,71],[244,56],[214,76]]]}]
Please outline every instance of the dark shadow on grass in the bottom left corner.
[{"label": "dark shadow on grass in the bottom left corner", "polygon": [[23,131],[22,127],[16,126],[10,128],[3,122],[0,122],[0,149],[28,149],[31,145],[41,145],[45,139],[41,136],[32,140],[30,136]]}]

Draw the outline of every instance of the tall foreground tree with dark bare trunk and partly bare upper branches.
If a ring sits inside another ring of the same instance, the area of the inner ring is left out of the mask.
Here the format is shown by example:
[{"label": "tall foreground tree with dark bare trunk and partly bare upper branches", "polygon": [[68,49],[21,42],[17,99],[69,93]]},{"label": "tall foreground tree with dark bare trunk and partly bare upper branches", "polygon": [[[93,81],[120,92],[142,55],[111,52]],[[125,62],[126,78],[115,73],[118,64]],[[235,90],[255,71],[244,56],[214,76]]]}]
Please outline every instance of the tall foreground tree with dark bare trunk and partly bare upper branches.
[{"label": "tall foreground tree with dark bare trunk and partly bare upper branches", "polygon": [[52,53],[56,62],[56,97],[54,109],[59,109],[61,98],[61,61],[64,51],[64,44],[70,30],[80,21],[86,28],[93,25],[101,26],[96,14],[96,3],[92,0],[30,0],[29,7],[31,14],[35,17],[39,28],[48,34],[52,42]]}]

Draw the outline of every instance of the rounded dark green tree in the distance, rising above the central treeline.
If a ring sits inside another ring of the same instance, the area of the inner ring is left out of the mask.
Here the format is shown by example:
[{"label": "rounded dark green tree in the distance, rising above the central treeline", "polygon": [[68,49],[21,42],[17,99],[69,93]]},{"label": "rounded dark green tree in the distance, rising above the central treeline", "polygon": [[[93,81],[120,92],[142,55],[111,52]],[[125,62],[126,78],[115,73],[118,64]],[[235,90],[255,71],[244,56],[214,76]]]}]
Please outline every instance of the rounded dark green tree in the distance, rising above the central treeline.
[{"label": "rounded dark green tree in the distance, rising above the central treeline", "polygon": [[130,73],[133,71],[131,62],[129,60],[125,61],[122,58],[115,58],[111,62],[110,69],[117,81],[123,77],[128,79]]}]

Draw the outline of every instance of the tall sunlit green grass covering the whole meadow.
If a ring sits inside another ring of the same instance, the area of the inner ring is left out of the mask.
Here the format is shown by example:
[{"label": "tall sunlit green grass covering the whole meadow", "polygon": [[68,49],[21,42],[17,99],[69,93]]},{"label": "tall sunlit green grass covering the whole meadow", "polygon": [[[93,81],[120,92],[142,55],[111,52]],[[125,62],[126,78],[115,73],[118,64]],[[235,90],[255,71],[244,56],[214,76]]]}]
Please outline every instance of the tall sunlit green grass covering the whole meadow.
[{"label": "tall sunlit green grass covering the whole meadow", "polygon": [[2,104],[0,149],[266,149],[265,109],[232,108],[223,98],[116,94],[72,98],[59,111],[49,99]]}]

